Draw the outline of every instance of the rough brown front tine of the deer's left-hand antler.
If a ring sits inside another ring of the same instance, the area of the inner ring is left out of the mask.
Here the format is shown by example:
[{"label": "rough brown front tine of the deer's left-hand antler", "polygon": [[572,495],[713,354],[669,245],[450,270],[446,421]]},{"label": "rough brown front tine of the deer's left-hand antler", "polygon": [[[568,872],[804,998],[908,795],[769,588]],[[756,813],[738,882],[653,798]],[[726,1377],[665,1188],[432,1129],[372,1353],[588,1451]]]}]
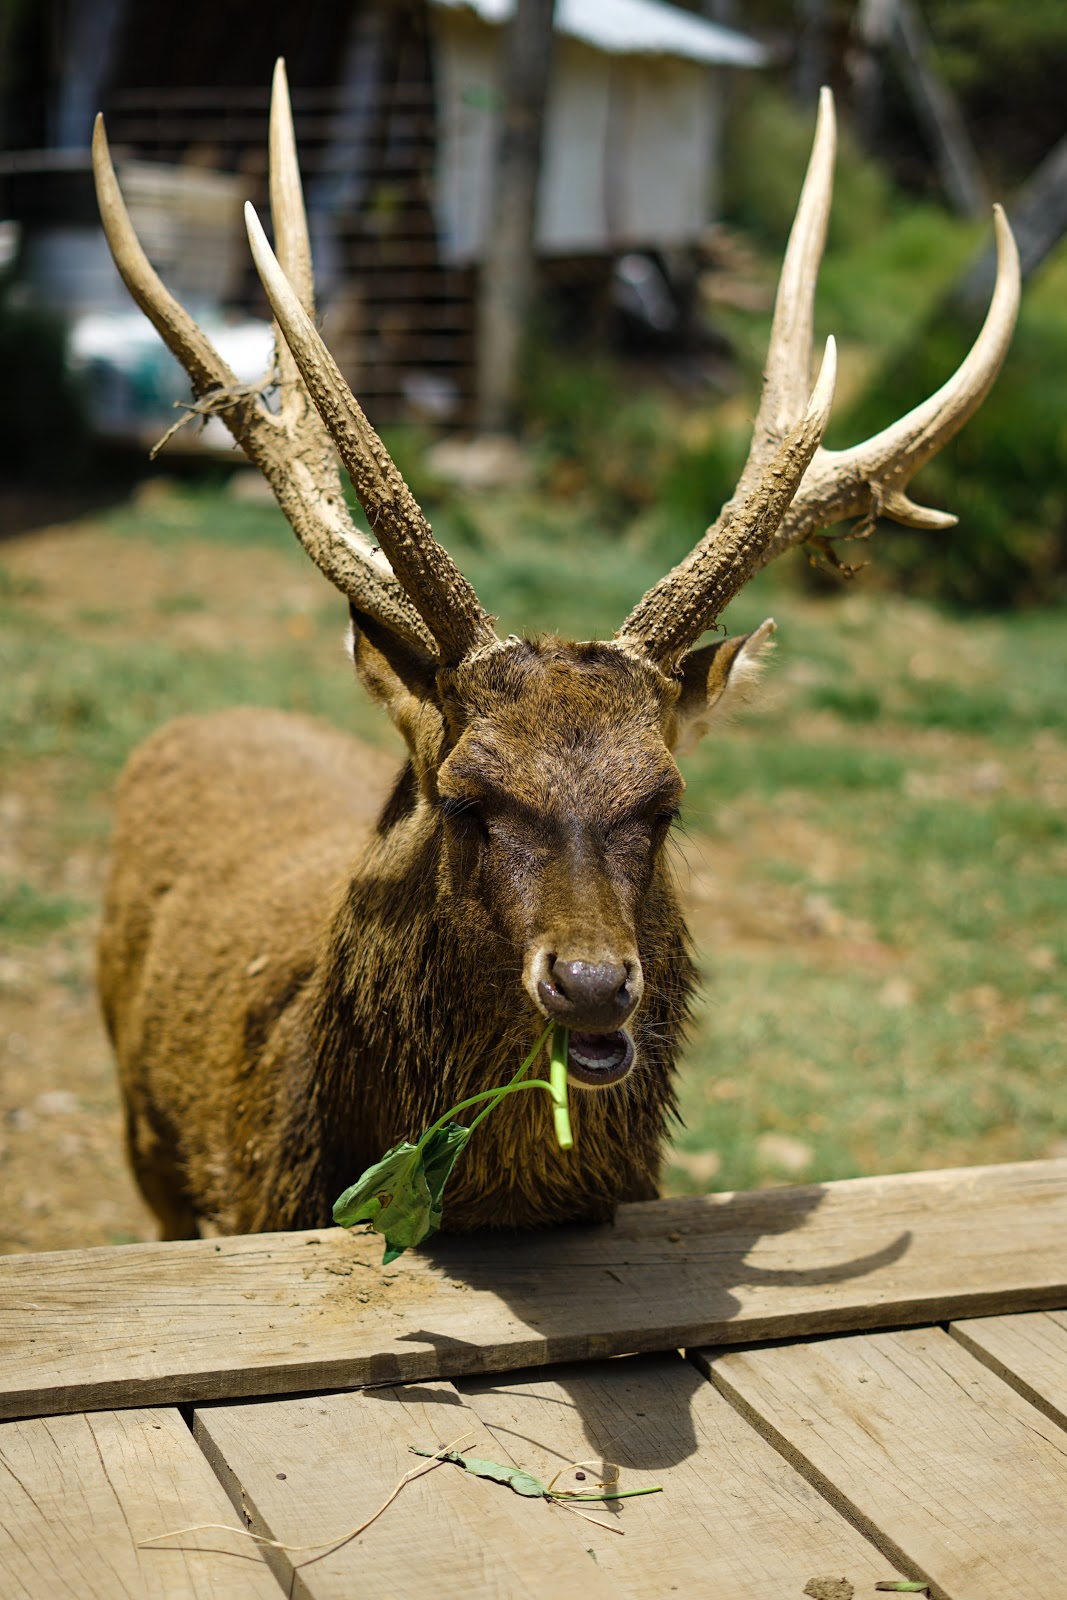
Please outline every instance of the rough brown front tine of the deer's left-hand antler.
[{"label": "rough brown front tine of the deer's left-hand antler", "polygon": [[256,270],[307,390],[392,570],[440,646],[442,661],[458,664],[475,650],[496,643],[478,597],[434,538],[398,467],[301,306],[251,205],[245,206],[245,226]]}]

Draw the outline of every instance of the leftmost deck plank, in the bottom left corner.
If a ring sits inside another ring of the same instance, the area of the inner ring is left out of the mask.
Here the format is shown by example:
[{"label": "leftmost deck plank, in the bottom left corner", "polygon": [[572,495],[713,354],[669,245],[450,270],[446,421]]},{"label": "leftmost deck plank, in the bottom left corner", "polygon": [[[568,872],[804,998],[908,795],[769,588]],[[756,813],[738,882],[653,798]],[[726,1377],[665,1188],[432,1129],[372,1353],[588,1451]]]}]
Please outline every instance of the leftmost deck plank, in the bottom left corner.
[{"label": "leftmost deck plank, in the bottom left corner", "polygon": [[178,1411],[0,1426],[5,1600],[280,1600],[248,1539],[200,1534],[230,1557],[139,1547],[195,1522],[234,1522],[234,1509]]}]

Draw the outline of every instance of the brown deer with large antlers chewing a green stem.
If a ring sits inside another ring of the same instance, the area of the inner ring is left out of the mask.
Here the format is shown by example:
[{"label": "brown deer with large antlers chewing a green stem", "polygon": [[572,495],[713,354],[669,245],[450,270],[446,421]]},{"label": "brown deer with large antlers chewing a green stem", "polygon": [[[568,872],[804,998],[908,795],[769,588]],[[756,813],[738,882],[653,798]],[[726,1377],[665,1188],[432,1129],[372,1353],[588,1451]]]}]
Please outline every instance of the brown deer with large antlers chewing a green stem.
[{"label": "brown deer with large antlers chewing a green stem", "polygon": [[[664,851],[675,754],[744,691],[773,622],[697,640],[758,568],[845,517],[955,522],[905,488],[981,405],[1017,309],[997,211],[997,288],[960,370],[865,443],[822,448],[832,341],[808,384],[833,139],[824,93],[734,498],[611,642],[573,643],[498,638],[322,344],[282,64],[278,259],[248,221],[278,326],[274,413],[154,274],[98,120],[118,269],[347,595],[357,674],[408,746],[386,774],[309,720],[232,710],[182,718],[130,762],[99,971],[163,1237],[322,1226],[387,1146],[504,1083],[545,1019],[571,1030],[576,1146],[557,1147],[547,1096],[515,1096],[459,1163],[445,1227],[600,1219],[656,1194],[694,981]],[[349,518],[331,440],[378,542]]]}]

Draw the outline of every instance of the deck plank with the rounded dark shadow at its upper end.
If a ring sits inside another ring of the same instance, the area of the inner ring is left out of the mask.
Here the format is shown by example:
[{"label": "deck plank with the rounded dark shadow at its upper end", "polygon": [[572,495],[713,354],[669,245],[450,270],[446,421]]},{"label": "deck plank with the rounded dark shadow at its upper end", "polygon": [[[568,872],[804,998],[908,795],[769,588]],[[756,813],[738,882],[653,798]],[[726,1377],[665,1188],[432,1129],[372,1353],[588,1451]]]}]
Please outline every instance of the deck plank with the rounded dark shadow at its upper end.
[{"label": "deck plank with the rounded dark shadow at its upper end", "polygon": [[893,1565],[680,1355],[469,1378],[461,1394],[496,1438],[496,1459],[542,1483],[576,1461],[598,1462],[581,1490],[621,1467],[619,1488],[662,1494],[587,1507],[625,1538],[569,1517],[597,1566],[635,1600],[715,1595],[782,1600],[817,1576],[848,1576],[873,1595]]}]

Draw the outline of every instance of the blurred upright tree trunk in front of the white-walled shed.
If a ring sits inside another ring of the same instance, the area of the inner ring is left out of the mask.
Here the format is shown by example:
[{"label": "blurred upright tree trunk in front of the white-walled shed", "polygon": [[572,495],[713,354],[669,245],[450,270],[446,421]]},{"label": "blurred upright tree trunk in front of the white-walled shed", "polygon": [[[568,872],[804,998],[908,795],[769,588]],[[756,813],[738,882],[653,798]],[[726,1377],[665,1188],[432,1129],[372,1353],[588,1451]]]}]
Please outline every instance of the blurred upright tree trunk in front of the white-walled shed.
[{"label": "blurred upright tree trunk in front of the white-walled shed", "polygon": [[502,109],[478,293],[477,422],[514,426],[518,357],[534,283],[534,222],[555,0],[515,0],[504,35]]}]

